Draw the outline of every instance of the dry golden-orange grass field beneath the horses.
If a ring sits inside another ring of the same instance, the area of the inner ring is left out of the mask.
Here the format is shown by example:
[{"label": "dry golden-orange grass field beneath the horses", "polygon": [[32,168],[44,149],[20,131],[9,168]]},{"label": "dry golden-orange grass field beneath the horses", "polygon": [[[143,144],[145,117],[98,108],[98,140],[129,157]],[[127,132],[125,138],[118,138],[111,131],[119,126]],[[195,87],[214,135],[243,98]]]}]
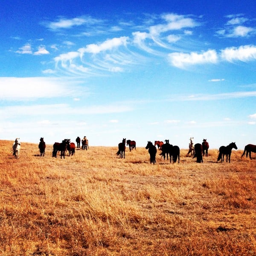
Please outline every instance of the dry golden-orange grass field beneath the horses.
[{"label": "dry golden-orange grass field beneath the horses", "polygon": [[21,141],[15,159],[12,143],[0,141],[1,256],[256,255],[254,153],[153,165],[145,148],[61,159]]}]

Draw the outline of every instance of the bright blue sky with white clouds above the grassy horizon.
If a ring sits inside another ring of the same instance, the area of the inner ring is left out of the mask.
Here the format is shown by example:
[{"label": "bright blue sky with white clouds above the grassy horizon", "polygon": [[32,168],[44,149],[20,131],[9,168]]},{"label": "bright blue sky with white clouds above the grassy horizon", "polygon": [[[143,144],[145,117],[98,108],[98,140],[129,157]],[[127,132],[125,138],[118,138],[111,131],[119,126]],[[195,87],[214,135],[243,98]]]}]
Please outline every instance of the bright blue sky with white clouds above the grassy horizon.
[{"label": "bright blue sky with white clouds above the grassy horizon", "polygon": [[255,1],[1,8],[1,140],[256,144]]}]

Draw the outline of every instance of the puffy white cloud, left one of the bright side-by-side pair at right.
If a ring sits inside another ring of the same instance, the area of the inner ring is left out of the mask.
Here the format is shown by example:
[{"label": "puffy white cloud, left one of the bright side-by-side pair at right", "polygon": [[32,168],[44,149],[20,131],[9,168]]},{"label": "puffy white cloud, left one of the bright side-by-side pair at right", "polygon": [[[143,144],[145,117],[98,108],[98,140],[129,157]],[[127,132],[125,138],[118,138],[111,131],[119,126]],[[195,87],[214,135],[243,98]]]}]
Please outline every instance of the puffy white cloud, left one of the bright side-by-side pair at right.
[{"label": "puffy white cloud, left one of the bright side-by-side pair at right", "polygon": [[170,64],[179,68],[184,68],[188,65],[216,63],[218,61],[218,56],[215,50],[208,50],[203,53],[174,52],[170,53],[168,57]]}]

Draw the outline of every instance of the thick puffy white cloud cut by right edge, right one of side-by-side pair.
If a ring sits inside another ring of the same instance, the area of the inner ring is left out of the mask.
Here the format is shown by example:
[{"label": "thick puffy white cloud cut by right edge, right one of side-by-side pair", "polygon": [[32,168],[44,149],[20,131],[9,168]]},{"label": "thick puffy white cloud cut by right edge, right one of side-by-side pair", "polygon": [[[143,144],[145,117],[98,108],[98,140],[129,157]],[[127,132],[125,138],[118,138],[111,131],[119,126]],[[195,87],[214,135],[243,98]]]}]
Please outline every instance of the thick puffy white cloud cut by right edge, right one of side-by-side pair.
[{"label": "thick puffy white cloud cut by right edge, right one of side-by-side pair", "polygon": [[240,47],[230,47],[221,50],[221,58],[226,61],[250,61],[256,59],[256,47],[254,45],[245,45]]}]

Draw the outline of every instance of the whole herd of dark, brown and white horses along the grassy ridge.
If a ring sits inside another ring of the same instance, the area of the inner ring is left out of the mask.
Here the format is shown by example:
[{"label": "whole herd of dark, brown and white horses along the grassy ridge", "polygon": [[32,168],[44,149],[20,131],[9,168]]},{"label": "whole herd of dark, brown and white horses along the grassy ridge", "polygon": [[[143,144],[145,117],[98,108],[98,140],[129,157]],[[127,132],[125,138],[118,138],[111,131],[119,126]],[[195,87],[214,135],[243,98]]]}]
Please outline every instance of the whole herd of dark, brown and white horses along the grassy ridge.
[{"label": "whole herd of dark, brown and white horses along the grassy ridge", "polygon": [[[208,149],[209,149],[209,143],[207,142],[207,139],[203,139],[203,142],[200,143],[196,143],[194,145],[194,138],[191,137],[190,139],[190,143],[189,143],[189,151],[186,154],[186,157],[189,156],[189,154],[191,154],[191,156],[193,158],[196,157],[196,162],[197,163],[203,163],[203,156],[208,157]],[[76,138],[76,143],[77,143],[77,148],[81,148],[83,150],[87,150],[89,148],[88,145],[88,140],[86,138],[86,136],[84,136],[84,138],[81,140],[80,137]],[[134,140],[127,140],[126,138],[123,138],[122,142],[118,144],[118,151],[116,152],[116,155],[118,155],[120,158],[125,158],[125,145],[129,145],[129,150],[136,150],[136,142]],[[171,163],[176,163],[178,160],[178,163],[180,163],[180,148],[177,145],[172,145],[169,143],[169,140],[165,140],[165,143],[163,143],[163,141],[159,141],[156,140],[154,142],[154,145],[151,141],[148,141],[148,144],[146,145],[146,149],[148,149],[148,153],[150,155],[150,163],[156,163],[156,154],[157,154],[157,148],[158,150],[161,150],[160,156],[163,157],[163,159],[165,160],[165,158],[170,158],[170,162]],[[44,142],[44,137],[40,138],[40,143],[38,144],[38,148],[40,151],[40,156],[44,157],[45,154],[45,148],[46,148],[46,144]],[[224,157],[226,156],[226,162],[227,160],[229,160],[230,163],[230,155],[232,152],[232,149],[235,148],[237,149],[236,143],[232,142],[227,146],[221,146],[219,148],[219,154],[218,154],[218,159],[217,162],[219,160],[221,160],[221,163],[224,162]],[[52,151],[52,157],[57,157],[58,152],[61,152],[61,158],[65,158],[65,154],[67,154],[67,152],[70,155],[75,154],[75,150],[76,150],[76,145],[73,142],[70,142],[70,139],[64,139],[62,140],[61,143],[55,142],[53,144],[53,151]],[[253,144],[248,144],[244,147],[244,152],[241,155],[241,157],[244,157],[244,155],[246,154],[246,157],[249,157],[250,159],[252,159],[251,157],[251,152],[256,153],[256,145]],[[19,153],[20,153],[20,138],[16,138],[15,142],[12,145],[12,153],[13,156],[15,156],[15,158],[19,158]]]}]

